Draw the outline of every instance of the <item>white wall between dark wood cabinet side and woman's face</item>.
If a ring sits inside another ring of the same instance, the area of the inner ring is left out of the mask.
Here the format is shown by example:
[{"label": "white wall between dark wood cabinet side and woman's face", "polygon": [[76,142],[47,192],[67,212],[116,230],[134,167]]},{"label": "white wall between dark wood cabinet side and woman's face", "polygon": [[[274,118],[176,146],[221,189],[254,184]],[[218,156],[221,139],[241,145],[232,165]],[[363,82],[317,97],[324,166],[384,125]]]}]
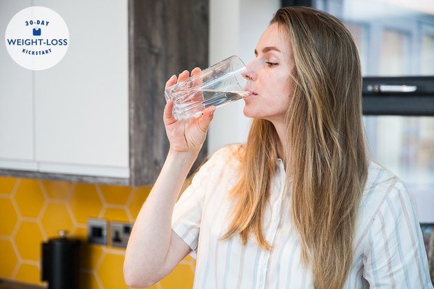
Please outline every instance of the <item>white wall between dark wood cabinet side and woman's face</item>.
[{"label": "white wall between dark wood cabinet side and woman's face", "polygon": [[[210,0],[209,64],[231,55],[249,63],[260,35],[267,28],[280,0]],[[242,114],[244,101],[219,107],[208,132],[208,151],[233,142],[245,142],[251,119]]]}]

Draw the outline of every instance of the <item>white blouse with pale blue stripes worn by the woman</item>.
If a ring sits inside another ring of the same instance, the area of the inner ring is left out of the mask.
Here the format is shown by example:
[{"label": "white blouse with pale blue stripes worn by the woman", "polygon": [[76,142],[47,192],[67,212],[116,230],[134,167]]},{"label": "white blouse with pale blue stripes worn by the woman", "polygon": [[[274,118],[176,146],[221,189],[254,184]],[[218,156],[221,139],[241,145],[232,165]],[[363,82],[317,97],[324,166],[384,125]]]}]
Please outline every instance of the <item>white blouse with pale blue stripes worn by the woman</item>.
[{"label": "white blouse with pale blue stripes worn by the woman", "polygon": [[[201,167],[174,209],[172,230],[196,257],[193,288],[313,288],[312,272],[300,263],[300,237],[290,222],[285,170],[277,160],[263,232],[273,245],[262,250],[251,236],[221,240],[239,180],[236,145],[224,147]],[[422,232],[404,184],[373,162],[364,189],[354,261],[344,288],[433,288]]]}]

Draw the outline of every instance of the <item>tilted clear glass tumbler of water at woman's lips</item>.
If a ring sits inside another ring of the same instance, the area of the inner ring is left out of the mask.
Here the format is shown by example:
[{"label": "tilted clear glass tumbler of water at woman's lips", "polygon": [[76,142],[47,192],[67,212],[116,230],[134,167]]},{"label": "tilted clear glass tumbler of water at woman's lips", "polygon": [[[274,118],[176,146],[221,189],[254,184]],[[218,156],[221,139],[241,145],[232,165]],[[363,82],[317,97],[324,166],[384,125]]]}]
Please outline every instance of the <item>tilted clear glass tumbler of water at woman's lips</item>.
[{"label": "tilted clear glass tumbler of water at woman's lips", "polygon": [[164,94],[166,100],[174,102],[174,117],[183,120],[211,105],[221,107],[240,100],[253,92],[253,85],[246,65],[234,55],[167,87]]}]

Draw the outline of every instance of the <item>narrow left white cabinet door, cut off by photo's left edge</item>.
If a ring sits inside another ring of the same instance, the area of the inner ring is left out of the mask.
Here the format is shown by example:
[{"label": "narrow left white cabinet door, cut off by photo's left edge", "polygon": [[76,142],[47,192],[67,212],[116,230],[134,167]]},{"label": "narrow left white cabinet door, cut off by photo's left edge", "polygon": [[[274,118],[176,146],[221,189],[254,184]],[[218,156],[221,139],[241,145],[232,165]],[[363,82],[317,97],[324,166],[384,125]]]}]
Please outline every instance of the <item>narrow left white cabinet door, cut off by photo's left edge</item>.
[{"label": "narrow left white cabinet door, cut off by photo's left edge", "polygon": [[[0,27],[6,30],[10,19],[30,4],[1,1]],[[32,71],[15,63],[4,44],[0,63],[0,168],[35,170]]]}]

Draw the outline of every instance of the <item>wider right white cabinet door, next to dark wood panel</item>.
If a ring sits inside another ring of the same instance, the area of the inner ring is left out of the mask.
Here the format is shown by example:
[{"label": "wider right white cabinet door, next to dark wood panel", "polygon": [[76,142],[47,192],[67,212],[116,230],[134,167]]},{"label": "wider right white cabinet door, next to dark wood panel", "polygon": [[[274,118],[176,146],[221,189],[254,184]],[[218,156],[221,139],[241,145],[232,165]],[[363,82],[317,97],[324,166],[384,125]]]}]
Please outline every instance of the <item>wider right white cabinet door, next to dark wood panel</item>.
[{"label": "wider right white cabinet door, next to dark wood panel", "polygon": [[34,72],[39,171],[129,177],[127,0],[35,0],[63,17],[64,58]]}]

